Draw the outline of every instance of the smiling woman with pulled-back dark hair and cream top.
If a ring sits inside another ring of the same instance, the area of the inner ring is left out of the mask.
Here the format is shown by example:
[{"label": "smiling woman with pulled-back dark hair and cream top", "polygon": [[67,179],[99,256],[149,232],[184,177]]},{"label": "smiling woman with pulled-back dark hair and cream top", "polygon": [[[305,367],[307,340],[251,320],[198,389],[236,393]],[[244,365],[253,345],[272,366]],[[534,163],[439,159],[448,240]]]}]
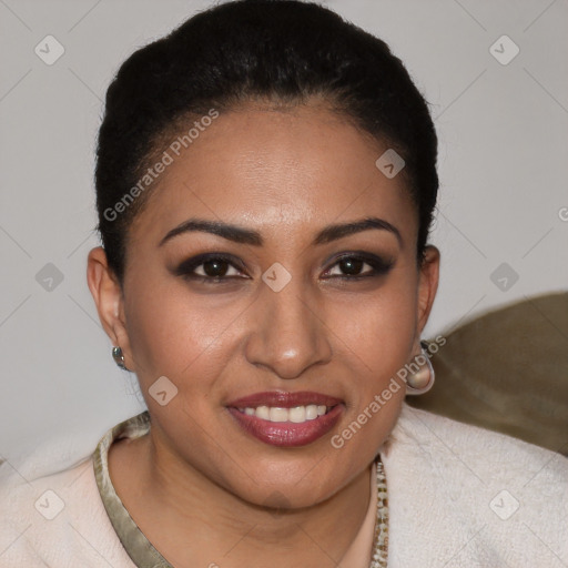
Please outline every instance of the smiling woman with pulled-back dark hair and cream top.
[{"label": "smiling woman with pulled-back dark hair and cream top", "polygon": [[130,57],[88,283],[148,412],[4,491],[2,566],[566,565],[564,458],[404,404],[444,346],[436,151],[402,62],[313,3]]}]

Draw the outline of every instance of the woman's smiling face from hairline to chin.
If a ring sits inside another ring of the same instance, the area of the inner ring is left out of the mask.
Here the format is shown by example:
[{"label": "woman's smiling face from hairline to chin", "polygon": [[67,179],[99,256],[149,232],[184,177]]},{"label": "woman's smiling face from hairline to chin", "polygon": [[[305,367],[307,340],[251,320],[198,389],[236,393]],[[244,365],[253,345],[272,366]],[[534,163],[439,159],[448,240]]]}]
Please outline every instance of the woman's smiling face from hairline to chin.
[{"label": "woman's smiling face from hairline to chin", "polygon": [[387,148],[314,104],[221,114],[180,156],[165,148],[131,227],[113,338],[154,443],[250,503],[332,496],[397,419],[390,379],[418,351],[438,258],[417,267],[403,175],[375,165]]}]

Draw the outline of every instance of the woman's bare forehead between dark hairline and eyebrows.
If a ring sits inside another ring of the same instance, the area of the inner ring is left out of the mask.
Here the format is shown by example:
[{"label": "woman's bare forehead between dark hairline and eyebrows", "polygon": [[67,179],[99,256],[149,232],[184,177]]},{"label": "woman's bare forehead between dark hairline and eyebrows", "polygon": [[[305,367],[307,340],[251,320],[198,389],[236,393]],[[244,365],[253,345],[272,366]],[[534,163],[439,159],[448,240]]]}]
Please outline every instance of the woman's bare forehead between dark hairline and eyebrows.
[{"label": "woman's bare forehead between dark hairline and eyebrows", "polygon": [[186,219],[204,217],[255,229],[267,242],[282,239],[283,230],[302,241],[325,224],[373,215],[398,226],[405,242],[413,240],[417,227],[405,178],[388,179],[375,164],[388,145],[347,119],[314,105],[248,106],[205,123],[187,148],[174,144],[179,155],[164,145],[172,161],[132,239],[158,242]]}]

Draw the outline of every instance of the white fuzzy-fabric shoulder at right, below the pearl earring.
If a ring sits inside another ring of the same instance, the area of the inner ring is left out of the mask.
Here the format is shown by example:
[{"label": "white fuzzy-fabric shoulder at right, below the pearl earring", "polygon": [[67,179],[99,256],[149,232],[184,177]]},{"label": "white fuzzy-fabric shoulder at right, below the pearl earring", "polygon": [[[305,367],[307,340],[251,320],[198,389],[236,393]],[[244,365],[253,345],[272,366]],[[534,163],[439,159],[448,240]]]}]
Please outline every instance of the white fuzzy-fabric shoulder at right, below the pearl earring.
[{"label": "white fuzzy-fabric shoulder at right, below the pearl earring", "polygon": [[424,555],[424,566],[568,565],[562,455],[403,405],[382,458],[394,559],[414,554]]}]

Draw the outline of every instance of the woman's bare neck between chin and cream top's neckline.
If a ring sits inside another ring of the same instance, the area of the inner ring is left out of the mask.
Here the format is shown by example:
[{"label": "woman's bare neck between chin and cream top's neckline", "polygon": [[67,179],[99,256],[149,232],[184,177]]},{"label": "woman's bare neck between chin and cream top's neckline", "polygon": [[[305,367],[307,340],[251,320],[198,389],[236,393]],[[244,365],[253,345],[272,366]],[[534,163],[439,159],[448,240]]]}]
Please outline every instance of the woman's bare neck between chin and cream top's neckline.
[{"label": "woman's bare neck between chin and cream top's neckline", "polygon": [[244,568],[253,558],[254,565],[271,568],[336,567],[362,527],[371,498],[371,466],[323,503],[268,509],[205,477],[156,444],[153,433],[136,440],[139,498],[125,506],[176,568]]}]

